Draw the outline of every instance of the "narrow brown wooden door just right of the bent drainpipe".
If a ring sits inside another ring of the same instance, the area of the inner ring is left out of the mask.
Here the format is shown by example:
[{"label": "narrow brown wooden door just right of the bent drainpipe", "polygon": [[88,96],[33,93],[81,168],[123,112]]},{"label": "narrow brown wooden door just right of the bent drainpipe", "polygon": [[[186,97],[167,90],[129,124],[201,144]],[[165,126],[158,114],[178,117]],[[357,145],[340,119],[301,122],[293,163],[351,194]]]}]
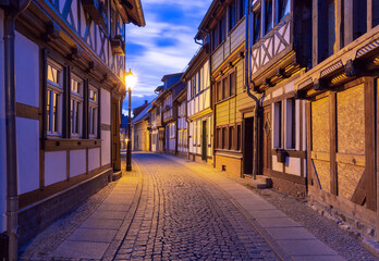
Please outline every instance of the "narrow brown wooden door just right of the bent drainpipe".
[{"label": "narrow brown wooden door just right of the bent drainpipe", "polygon": [[264,108],[264,144],[262,144],[262,172],[264,175],[270,175],[271,171],[271,161],[272,161],[272,156],[271,156],[271,105],[265,107]]}]

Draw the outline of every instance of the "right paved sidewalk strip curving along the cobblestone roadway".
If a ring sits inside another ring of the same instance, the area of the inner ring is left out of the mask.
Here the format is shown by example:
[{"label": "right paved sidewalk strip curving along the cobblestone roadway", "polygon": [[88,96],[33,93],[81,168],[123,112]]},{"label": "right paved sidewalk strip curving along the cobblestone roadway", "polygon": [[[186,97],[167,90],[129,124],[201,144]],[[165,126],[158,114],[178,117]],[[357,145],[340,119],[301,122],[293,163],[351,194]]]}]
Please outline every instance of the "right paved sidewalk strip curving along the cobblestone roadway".
[{"label": "right paved sidewalk strip curving along the cobblestone roadway", "polygon": [[166,157],[185,165],[221,190],[282,260],[345,260],[274,206],[215,169],[175,157]]}]

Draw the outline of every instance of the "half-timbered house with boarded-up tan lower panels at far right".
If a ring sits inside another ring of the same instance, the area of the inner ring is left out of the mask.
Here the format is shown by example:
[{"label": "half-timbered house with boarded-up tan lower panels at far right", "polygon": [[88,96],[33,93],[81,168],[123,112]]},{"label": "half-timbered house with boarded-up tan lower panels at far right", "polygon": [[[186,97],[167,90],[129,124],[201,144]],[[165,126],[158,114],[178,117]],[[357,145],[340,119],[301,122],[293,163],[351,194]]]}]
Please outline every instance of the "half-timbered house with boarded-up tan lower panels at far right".
[{"label": "half-timbered house with boarded-up tan lower panels at far right", "polygon": [[309,199],[378,240],[379,2],[311,4],[313,69],[294,85],[307,99]]}]

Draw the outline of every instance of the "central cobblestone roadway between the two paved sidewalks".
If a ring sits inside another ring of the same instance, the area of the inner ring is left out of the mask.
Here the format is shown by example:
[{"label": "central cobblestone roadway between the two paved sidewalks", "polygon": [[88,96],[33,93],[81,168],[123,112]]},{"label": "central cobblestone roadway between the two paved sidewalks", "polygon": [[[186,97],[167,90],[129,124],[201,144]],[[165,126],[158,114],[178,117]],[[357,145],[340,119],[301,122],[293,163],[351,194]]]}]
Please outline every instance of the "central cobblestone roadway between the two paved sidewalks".
[{"label": "central cobblestone roadway between the two paved sidewalks", "polygon": [[143,192],[115,260],[278,260],[213,186],[161,156],[134,159]]}]

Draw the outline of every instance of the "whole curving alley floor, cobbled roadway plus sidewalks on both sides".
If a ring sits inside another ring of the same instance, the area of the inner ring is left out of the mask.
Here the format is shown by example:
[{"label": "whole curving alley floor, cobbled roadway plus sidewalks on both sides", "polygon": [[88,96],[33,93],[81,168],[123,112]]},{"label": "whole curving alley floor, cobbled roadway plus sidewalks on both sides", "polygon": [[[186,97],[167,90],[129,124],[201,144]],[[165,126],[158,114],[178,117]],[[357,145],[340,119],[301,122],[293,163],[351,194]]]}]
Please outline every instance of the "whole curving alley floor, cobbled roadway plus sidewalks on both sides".
[{"label": "whole curving alley floor, cobbled roadway plus sidewalks on both sides", "polygon": [[[327,244],[208,165],[155,153],[133,159],[133,172],[48,227],[21,250],[21,259],[376,260],[315,211],[322,236],[331,237],[321,238]],[[304,213],[309,210],[304,204]]]}]

